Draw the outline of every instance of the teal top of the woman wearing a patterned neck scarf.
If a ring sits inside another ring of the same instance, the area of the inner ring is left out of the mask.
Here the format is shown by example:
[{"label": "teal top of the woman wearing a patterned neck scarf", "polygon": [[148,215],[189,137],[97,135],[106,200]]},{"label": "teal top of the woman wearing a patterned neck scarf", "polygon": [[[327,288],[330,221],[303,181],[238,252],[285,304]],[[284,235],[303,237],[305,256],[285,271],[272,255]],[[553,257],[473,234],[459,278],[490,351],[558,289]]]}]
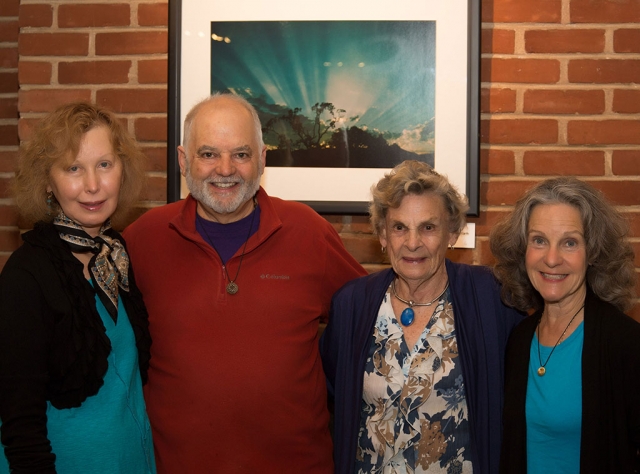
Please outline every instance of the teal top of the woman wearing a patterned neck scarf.
[{"label": "teal top of the woman wearing a patterned neck scarf", "polygon": [[[112,350],[104,385],[80,407],[47,408],[47,430],[59,474],[155,474],[151,427],[142,394],[133,329],[118,298],[117,324],[96,296]],[[8,473],[0,454],[0,474]]]}]

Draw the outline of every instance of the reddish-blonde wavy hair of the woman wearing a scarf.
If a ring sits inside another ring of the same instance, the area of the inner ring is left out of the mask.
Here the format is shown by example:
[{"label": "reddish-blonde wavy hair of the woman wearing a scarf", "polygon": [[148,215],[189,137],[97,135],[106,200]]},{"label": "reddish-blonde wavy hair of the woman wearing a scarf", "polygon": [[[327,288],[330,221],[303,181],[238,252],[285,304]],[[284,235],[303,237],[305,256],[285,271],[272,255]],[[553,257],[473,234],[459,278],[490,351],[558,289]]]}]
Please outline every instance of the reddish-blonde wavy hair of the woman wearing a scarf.
[{"label": "reddish-blonde wavy hair of the woman wearing a scarf", "polygon": [[137,143],[111,111],[84,102],[71,103],[42,119],[20,148],[12,193],[18,210],[29,223],[50,222],[57,215],[55,199],[47,203],[51,168],[59,162],[72,162],[82,137],[95,127],[109,130],[113,150],[122,162],[118,208],[112,219],[123,219],[136,202],[145,178],[145,157]]}]

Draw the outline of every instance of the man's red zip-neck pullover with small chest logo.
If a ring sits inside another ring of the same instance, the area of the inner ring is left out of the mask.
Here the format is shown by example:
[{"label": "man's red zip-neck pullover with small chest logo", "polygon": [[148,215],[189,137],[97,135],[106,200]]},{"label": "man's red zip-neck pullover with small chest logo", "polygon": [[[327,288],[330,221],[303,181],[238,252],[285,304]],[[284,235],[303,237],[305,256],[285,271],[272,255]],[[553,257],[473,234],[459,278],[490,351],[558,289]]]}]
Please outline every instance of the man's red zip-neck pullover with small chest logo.
[{"label": "man's red zip-neck pullover with small chest logo", "polygon": [[145,398],[159,474],[333,472],[318,323],[365,271],[311,208],[262,188],[258,205],[235,295],[190,196],[124,232],[149,311]]}]

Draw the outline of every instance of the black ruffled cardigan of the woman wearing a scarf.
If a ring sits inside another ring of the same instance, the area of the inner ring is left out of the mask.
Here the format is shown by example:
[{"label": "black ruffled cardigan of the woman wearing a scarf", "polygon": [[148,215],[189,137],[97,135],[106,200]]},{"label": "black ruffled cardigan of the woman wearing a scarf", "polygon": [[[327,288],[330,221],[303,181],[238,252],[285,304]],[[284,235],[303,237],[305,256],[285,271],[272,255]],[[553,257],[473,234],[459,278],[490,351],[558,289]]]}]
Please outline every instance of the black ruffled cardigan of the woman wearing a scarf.
[{"label": "black ruffled cardigan of the woman wearing a scarf", "polygon": [[[114,230],[106,233],[122,241]],[[53,225],[38,223],[23,240],[0,275],[0,419],[7,458],[35,469],[53,461],[46,402],[56,408],[78,407],[98,393],[111,343],[84,267]],[[129,292],[120,296],[144,383],[151,337],[132,271],[129,285]]]}]

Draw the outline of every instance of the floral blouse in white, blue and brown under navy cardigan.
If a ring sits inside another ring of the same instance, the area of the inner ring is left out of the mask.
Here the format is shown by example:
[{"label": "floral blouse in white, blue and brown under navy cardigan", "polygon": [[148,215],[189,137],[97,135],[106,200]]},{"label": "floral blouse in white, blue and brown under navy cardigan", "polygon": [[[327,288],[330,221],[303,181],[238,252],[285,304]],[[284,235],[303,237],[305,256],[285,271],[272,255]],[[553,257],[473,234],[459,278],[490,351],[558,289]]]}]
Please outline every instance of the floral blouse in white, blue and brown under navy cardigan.
[{"label": "floral blouse in white, blue and brown under navy cardigan", "polygon": [[449,291],[410,350],[384,297],[365,365],[358,474],[471,473]]}]

